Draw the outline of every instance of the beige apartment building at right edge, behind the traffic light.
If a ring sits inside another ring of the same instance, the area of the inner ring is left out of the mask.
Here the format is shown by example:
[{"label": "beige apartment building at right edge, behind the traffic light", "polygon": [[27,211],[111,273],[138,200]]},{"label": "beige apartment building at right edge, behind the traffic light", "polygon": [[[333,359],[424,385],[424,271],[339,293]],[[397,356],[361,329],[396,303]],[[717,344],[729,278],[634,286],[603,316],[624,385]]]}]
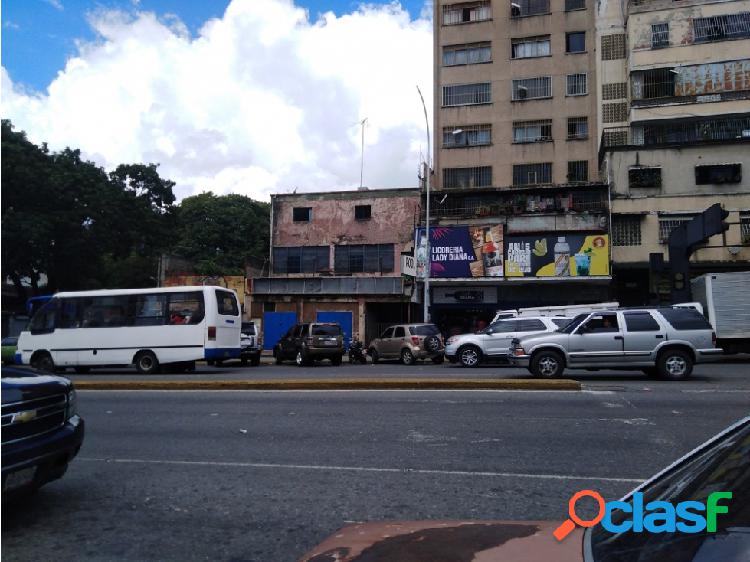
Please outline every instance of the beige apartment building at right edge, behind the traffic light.
[{"label": "beige apartment building at right edge, behind the traffic light", "polygon": [[750,268],[750,1],[601,3],[600,163],[612,195],[615,291],[627,304],[669,298],[676,226],[714,203],[729,230],[692,271]]}]

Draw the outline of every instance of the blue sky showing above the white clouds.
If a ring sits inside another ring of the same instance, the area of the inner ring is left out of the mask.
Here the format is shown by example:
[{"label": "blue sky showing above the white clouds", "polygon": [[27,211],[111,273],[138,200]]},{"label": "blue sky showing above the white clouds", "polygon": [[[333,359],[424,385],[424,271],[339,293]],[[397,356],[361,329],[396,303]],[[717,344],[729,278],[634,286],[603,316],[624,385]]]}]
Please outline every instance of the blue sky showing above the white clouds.
[{"label": "blue sky showing above the white clouds", "polygon": [[[192,34],[211,18],[224,14],[228,0],[4,0],[2,3],[2,64],[14,83],[44,91],[77,53],[76,41],[92,41],[94,33],[86,16],[97,10],[135,10],[159,16],[175,14]],[[368,4],[388,4],[368,0]],[[355,0],[295,0],[306,8],[311,19],[333,11],[337,16],[351,13],[362,4]],[[424,0],[401,0],[401,6],[417,18]]]}]

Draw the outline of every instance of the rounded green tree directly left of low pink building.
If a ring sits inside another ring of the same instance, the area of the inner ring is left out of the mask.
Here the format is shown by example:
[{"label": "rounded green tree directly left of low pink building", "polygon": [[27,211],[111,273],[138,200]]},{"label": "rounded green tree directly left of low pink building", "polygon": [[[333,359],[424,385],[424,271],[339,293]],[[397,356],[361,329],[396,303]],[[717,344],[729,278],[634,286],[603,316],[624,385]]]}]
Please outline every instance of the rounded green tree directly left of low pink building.
[{"label": "rounded green tree directly left of low pink building", "polygon": [[243,274],[248,260],[268,258],[268,203],[209,191],[183,199],[176,214],[175,252],[199,275]]}]

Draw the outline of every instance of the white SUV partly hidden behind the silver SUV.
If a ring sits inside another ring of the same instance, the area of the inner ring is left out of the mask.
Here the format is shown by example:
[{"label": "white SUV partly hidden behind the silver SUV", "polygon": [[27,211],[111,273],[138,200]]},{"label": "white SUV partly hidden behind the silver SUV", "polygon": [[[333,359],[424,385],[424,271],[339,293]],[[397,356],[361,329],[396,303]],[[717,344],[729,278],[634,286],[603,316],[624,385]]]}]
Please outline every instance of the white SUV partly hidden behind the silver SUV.
[{"label": "white SUV partly hidden behind the silver SUV", "polygon": [[464,367],[477,367],[485,361],[508,363],[510,346],[514,338],[554,332],[570,320],[562,316],[496,320],[480,332],[448,338],[445,345],[445,357],[451,363],[458,362]]}]

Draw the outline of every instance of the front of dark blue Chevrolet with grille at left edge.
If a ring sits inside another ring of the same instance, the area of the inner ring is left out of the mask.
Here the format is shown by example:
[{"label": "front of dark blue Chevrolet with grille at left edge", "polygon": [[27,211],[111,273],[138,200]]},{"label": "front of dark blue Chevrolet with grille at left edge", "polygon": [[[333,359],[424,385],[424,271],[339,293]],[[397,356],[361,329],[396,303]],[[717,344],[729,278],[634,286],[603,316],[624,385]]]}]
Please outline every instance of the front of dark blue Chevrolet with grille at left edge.
[{"label": "front of dark blue Chevrolet with grille at left edge", "polygon": [[73,383],[33,369],[2,369],[3,501],[61,478],[83,443]]}]

